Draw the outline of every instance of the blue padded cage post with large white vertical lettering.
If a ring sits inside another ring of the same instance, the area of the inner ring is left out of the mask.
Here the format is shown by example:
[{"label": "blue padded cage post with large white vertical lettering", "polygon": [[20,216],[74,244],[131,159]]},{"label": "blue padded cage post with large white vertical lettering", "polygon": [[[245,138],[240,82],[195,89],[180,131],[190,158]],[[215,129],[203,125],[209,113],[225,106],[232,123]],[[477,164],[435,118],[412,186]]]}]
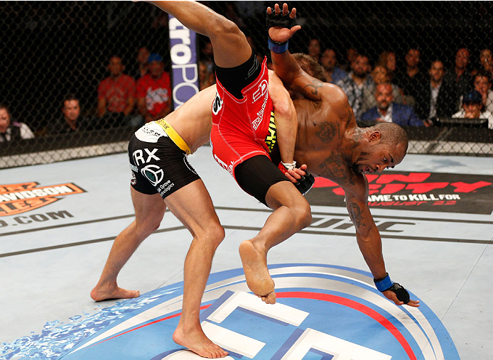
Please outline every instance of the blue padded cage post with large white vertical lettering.
[{"label": "blue padded cage post with large white vertical lettering", "polygon": [[169,16],[170,58],[173,72],[173,106],[177,109],[199,92],[197,34]]}]

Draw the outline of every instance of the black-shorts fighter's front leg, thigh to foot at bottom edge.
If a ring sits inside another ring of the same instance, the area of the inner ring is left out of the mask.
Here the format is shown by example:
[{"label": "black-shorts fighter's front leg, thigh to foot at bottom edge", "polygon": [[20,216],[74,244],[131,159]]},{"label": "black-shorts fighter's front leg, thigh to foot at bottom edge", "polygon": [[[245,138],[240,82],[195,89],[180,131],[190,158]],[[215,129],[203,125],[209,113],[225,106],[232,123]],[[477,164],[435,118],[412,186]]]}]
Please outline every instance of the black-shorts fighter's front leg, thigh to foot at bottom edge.
[{"label": "black-shorts fighter's front leg, thigh to foot at bottom edge", "polygon": [[222,228],[202,180],[196,180],[165,199],[168,208],[193,235],[185,258],[183,309],[173,340],[200,356],[217,359],[227,356],[208,339],[200,326],[200,303],[209,278],[212,258],[224,239]]}]

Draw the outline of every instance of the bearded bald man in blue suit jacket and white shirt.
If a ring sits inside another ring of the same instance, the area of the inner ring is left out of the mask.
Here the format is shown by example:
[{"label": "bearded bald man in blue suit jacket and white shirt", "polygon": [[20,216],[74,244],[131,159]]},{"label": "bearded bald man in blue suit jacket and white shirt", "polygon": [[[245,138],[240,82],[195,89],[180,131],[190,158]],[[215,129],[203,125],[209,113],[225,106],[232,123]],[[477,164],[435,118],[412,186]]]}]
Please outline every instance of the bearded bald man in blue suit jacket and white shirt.
[{"label": "bearded bald man in blue suit jacket and white shirt", "polygon": [[423,126],[423,121],[413,111],[412,107],[394,102],[392,84],[384,82],[376,85],[376,107],[372,107],[361,116],[362,121],[393,122],[400,126]]}]

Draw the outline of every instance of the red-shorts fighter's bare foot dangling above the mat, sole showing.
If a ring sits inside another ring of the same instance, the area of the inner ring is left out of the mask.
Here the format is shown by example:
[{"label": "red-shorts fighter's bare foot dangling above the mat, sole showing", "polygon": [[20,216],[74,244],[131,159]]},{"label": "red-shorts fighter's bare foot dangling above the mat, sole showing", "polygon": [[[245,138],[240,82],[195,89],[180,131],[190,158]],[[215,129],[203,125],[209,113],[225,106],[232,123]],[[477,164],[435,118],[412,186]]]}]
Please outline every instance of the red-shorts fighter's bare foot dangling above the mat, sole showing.
[{"label": "red-shorts fighter's bare foot dangling above the mat, sole showing", "polygon": [[267,304],[275,304],[274,282],[267,268],[265,254],[258,251],[251,240],[245,240],[239,244],[239,256],[242,258],[249,289]]}]

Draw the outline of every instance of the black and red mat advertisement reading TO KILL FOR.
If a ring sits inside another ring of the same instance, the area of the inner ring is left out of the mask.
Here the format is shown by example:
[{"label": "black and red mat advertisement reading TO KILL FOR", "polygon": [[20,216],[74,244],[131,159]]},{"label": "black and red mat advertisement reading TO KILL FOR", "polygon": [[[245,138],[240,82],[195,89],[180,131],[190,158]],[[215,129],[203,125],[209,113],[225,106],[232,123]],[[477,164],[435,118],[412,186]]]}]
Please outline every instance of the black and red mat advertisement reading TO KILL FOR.
[{"label": "black and red mat advertisement reading TO KILL FOR", "polygon": [[[491,214],[491,175],[409,173],[367,174],[369,207]],[[345,207],[345,192],[331,180],[316,178],[306,198],[312,205]]]}]

